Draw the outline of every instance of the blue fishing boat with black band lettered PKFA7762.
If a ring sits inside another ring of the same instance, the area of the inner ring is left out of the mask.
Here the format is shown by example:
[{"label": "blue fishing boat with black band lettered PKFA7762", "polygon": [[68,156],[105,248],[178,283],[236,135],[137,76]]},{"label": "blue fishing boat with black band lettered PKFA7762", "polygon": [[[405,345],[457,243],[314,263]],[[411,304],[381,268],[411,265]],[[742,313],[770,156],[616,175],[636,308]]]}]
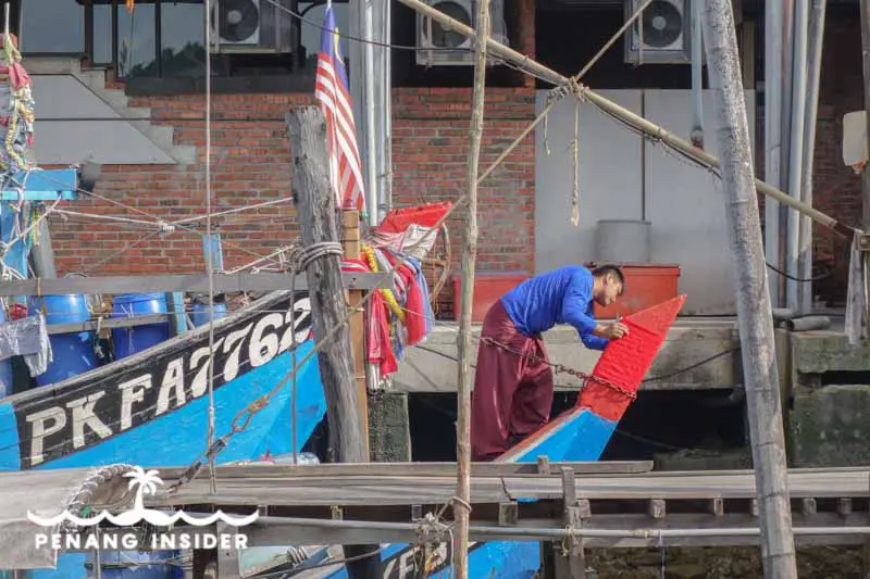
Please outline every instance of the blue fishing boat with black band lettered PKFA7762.
[{"label": "blue fishing boat with black band lettered PKFA7762", "polygon": [[[299,362],[314,348],[311,305],[304,293],[272,292],[214,323],[216,437],[229,432],[236,417],[251,414],[247,428],[217,455],[217,464],[302,450],[323,420],[326,403],[316,356],[297,373],[296,388],[286,379],[294,367],[294,343]],[[0,469],[191,464],[207,444],[209,351],[206,325],[0,400]],[[250,404],[277,385],[270,403],[251,412]],[[177,563],[157,564],[154,557],[165,561],[162,553],[125,552],[121,566],[103,561],[104,572],[127,577],[134,559],[140,564],[135,577],[169,578],[181,571]],[[30,571],[29,577],[84,579],[89,564],[85,554],[65,554],[57,569]]]}]

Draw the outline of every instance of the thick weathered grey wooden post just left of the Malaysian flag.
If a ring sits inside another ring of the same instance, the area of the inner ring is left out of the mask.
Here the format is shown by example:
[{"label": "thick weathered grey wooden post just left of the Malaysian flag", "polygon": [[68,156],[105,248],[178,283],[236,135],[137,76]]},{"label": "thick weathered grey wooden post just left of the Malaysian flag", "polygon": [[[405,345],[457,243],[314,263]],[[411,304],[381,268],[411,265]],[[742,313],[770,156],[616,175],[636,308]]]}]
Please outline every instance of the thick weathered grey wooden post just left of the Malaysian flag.
[{"label": "thick weathered grey wooden post just left of the Malaysian flag", "polygon": [[[293,191],[297,198],[302,243],[338,241],[338,212],[330,184],[326,152],[326,121],[318,106],[290,111],[287,126],[293,154]],[[340,326],[335,337],[318,353],[326,413],[330,446],[337,463],[366,463],[362,416],[353,383],[353,361],[347,318],[341,264],[337,255],[314,261],[307,269],[311,297],[312,331],[320,341]],[[345,556],[362,557],[347,564],[351,579],[381,577],[377,545],[345,545]],[[366,554],[372,554],[365,556]]]}]

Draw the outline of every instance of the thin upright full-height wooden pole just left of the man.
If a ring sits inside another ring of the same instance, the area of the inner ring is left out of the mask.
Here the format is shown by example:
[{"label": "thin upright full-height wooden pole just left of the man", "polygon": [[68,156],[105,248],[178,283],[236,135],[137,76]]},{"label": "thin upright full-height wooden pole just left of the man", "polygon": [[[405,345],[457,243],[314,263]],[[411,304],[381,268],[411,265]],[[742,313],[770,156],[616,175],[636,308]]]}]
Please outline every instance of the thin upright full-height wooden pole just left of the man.
[{"label": "thin upright full-height wooden pole just left of the man", "polygon": [[486,40],[489,36],[489,0],[477,1],[476,50],[474,63],[474,98],[469,127],[468,217],[465,244],[462,250],[462,297],[457,337],[457,530],[453,543],[453,569],[458,579],[469,577],[469,506],[471,504],[471,304],[474,295],[474,266],[477,261],[477,165],[483,136],[484,95],[486,91]]}]

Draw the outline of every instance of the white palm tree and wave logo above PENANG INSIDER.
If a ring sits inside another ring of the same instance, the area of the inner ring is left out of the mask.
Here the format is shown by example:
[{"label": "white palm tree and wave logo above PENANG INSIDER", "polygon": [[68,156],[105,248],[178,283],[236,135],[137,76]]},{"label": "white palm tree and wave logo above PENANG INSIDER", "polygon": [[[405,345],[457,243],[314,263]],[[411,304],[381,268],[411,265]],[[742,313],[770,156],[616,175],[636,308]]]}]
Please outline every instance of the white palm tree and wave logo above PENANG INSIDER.
[{"label": "white palm tree and wave logo above PENANG INSIDER", "polygon": [[217,520],[222,520],[233,527],[244,527],[252,524],[260,516],[259,512],[254,512],[247,517],[234,517],[232,515],[226,515],[223,511],[217,511],[206,517],[192,517],[182,511],[169,514],[162,511],[154,511],[153,508],[145,508],[145,496],[156,494],[158,484],[161,487],[163,486],[163,481],[158,477],[158,471],[146,471],[142,470],[141,467],[136,466],[132,470],[125,473],[124,477],[130,479],[128,488],[130,490],[136,490],[136,500],[133,505],[133,511],[125,511],[119,515],[112,515],[107,511],[102,511],[97,516],[87,518],[78,517],[66,511],[53,517],[40,517],[28,511],[27,518],[40,527],[54,527],[63,521],[70,521],[79,527],[92,527],[99,525],[103,520],[108,520],[119,527],[132,527],[142,521],[150,523],[157,527],[169,527],[179,520],[194,527],[206,527],[213,525]]}]

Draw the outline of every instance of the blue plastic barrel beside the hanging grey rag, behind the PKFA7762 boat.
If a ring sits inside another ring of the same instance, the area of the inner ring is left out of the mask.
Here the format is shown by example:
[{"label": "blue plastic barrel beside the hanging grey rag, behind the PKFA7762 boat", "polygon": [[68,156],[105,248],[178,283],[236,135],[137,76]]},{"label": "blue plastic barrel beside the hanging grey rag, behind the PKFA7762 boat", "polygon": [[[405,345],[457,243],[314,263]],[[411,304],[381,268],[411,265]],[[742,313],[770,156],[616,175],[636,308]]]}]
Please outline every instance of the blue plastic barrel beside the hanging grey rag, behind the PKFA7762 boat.
[{"label": "blue plastic barrel beside the hanging grey rag, behind the PKFA7762 boat", "polygon": [[[41,312],[48,325],[86,322],[90,317],[84,295],[30,297],[27,305],[30,315]],[[50,335],[52,362],[44,374],[36,377],[36,383],[60,382],[96,368],[95,338],[94,331]]]}]

